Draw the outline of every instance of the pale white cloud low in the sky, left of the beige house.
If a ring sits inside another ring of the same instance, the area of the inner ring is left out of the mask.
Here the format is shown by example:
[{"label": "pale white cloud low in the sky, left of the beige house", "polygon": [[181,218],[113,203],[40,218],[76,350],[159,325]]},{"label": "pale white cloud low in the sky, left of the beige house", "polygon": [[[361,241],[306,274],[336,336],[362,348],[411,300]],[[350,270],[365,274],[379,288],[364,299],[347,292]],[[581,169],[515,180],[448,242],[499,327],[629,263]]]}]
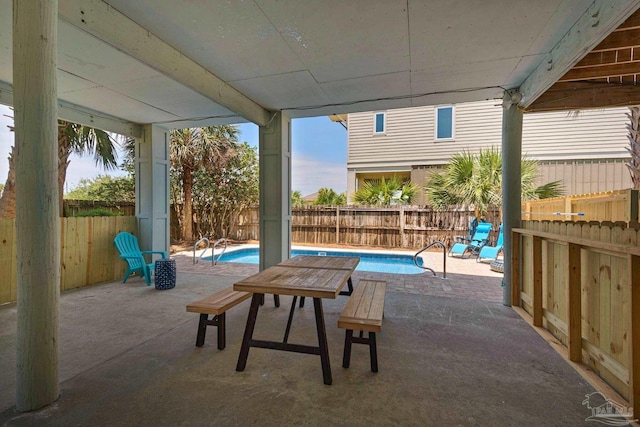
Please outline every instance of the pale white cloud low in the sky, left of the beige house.
[{"label": "pale white cloud low in the sky, left of the beige house", "polygon": [[322,187],[333,188],[337,193],[347,189],[347,165],[326,162],[305,156],[293,156],[291,165],[291,189],[303,196],[315,193]]}]

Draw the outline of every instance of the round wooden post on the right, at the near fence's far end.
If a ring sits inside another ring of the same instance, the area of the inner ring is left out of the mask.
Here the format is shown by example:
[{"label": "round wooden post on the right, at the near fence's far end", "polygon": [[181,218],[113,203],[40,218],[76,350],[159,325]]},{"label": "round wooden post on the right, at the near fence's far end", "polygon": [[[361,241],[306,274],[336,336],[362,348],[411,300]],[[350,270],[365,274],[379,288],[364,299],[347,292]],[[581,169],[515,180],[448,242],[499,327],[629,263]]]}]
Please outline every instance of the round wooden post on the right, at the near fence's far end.
[{"label": "round wooden post on the right, at the near fence's far end", "polygon": [[[502,227],[505,236],[511,236],[511,231],[520,227],[522,216],[522,112],[517,108],[520,99],[517,90],[505,91],[502,105]],[[514,244],[510,238],[504,241],[502,303],[506,306],[511,305],[511,254]]]}]

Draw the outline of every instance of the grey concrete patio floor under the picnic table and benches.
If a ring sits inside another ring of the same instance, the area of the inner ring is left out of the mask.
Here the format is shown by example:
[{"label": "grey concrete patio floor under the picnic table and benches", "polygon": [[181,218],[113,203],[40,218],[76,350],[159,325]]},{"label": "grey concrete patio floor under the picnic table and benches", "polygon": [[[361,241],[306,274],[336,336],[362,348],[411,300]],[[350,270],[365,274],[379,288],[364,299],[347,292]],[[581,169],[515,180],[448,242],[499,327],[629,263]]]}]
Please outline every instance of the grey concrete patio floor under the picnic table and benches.
[{"label": "grey concrete patio floor under the picnic table and benches", "polygon": [[[195,347],[198,316],[187,303],[256,272],[243,264],[178,261],[174,289],[140,278],[65,292],[60,300],[61,395],[17,413],[16,306],[0,307],[2,425],[416,425],[575,426],[595,391],[513,310],[501,304],[501,275],[463,260],[448,278],[354,273],[388,281],[378,335],[380,371],[354,345],[343,369],[346,297],[325,300],[333,385],[317,356],[252,348],[236,372],[249,301],[227,313],[227,348],[210,328]],[[477,269],[477,270],[476,270]],[[477,275],[477,274],[482,275]],[[256,338],[282,339],[290,297],[268,296]],[[317,343],[313,305],[296,309],[290,342]]]}]

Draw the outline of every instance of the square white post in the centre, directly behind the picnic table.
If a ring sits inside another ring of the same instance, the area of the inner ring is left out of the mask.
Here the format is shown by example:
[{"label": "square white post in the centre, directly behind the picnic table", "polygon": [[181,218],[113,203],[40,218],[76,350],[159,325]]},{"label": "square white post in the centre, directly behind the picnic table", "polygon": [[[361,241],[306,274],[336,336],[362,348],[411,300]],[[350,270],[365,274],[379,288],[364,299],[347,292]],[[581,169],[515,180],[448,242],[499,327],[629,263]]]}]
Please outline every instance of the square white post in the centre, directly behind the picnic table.
[{"label": "square white post in the centre, directly behind the picnic table", "polygon": [[291,119],[260,126],[260,271],[291,255]]}]

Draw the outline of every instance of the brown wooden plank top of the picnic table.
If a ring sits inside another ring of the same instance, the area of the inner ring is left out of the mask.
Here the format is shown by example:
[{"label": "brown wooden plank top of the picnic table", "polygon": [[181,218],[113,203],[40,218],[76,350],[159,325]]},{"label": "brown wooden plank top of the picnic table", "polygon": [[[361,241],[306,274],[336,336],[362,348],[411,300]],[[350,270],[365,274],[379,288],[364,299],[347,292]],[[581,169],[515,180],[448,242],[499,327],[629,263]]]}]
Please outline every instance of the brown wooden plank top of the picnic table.
[{"label": "brown wooden plank top of the picnic table", "polygon": [[327,269],[278,264],[235,283],[233,289],[258,294],[335,299],[353,269],[355,265],[352,269]]}]

